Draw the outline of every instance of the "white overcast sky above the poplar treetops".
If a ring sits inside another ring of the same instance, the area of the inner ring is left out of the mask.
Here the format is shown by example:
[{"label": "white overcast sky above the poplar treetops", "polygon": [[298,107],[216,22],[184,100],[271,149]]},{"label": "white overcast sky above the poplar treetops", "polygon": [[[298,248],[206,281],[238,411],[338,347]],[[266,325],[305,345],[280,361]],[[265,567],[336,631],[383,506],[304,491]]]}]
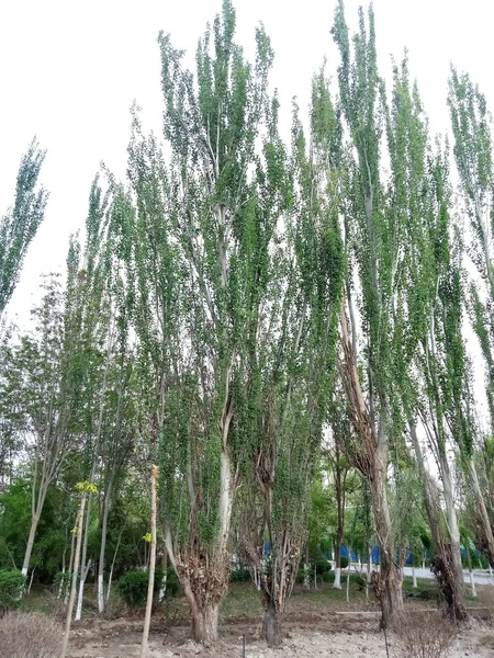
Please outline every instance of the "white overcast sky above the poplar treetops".
[{"label": "white overcast sky above the poplar treetops", "polygon": [[[362,2],[347,0],[355,25]],[[364,7],[367,2],[363,2]],[[329,30],[335,0],[237,0],[237,35],[252,52],[262,21],[276,52],[273,86],[289,116],[290,99],[306,109],[311,76],[325,55],[338,63]],[[160,132],[156,37],[193,56],[221,0],[0,0],[0,213],[13,198],[21,154],[34,135],[47,149],[42,180],[50,192],[46,220],[27,254],[8,308],[27,317],[40,274],[64,264],[68,236],[83,225],[99,162],[125,174],[130,107],[143,107],[145,127]],[[492,0],[374,0],[381,72],[390,55],[409,50],[412,75],[435,132],[448,127],[449,63],[468,70],[494,106]]]}]

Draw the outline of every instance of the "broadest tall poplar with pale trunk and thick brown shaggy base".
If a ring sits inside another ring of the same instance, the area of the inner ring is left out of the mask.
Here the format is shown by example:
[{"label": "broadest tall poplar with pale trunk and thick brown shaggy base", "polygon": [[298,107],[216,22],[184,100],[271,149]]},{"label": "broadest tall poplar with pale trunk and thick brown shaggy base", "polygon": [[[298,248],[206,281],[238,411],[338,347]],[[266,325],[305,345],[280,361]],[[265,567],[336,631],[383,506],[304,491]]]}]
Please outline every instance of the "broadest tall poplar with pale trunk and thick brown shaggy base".
[{"label": "broadest tall poplar with pale trunk and thick brown shaggy base", "polygon": [[[217,636],[232,510],[246,450],[232,423],[256,318],[272,294],[279,149],[267,83],[272,50],[256,32],[256,63],[235,44],[228,0],[197,52],[197,76],[159,37],[169,166],[134,122],[128,276],[153,372],[149,439],[159,445],[160,508],[170,561],[195,639]],[[263,143],[262,152],[256,150]],[[263,183],[262,183],[263,181]],[[272,191],[261,200],[259,188]]]}]

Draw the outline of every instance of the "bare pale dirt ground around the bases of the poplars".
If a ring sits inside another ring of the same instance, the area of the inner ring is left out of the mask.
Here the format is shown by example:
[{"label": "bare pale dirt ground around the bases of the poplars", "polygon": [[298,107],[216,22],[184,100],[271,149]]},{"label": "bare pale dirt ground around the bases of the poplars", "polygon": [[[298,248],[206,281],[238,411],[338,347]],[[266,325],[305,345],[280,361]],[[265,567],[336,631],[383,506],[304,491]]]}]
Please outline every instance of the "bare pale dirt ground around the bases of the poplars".
[{"label": "bare pale dirt ground around the bases of the poplars", "polygon": [[[435,611],[431,611],[431,614]],[[484,619],[482,619],[484,617]],[[494,627],[486,620],[489,611],[478,611],[469,628],[460,632],[451,658],[492,658]],[[283,645],[268,649],[258,639],[258,616],[227,617],[221,626],[221,639],[205,649],[189,638],[190,626],[186,616],[176,619],[173,626],[165,619],[155,620],[149,636],[149,658],[207,656],[233,658],[243,656],[243,635],[246,637],[247,658],[291,658],[346,656],[347,658],[386,657],[383,633],[378,631],[375,612],[308,612],[288,614],[284,620]],[[168,631],[168,635],[167,635]],[[142,621],[82,622],[71,632],[70,658],[132,658],[139,656]],[[167,636],[166,636],[167,635]],[[166,636],[166,637],[165,637]],[[390,658],[401,656],[393,635],[388,637]]]}]

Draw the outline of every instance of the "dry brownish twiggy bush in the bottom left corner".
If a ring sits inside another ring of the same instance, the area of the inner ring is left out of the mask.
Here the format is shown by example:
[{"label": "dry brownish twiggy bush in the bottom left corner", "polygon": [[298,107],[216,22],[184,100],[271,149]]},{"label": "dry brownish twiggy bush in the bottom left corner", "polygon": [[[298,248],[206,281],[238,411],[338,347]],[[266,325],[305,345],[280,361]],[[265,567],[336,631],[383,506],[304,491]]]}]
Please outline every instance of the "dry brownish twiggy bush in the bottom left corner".
[{"label": "dry brownish twiggy bush in the bottom left corner", "polygon": [[61,648],[63,628],[40,612],[9,612],[0,620],[0,658],[52,658]]}]

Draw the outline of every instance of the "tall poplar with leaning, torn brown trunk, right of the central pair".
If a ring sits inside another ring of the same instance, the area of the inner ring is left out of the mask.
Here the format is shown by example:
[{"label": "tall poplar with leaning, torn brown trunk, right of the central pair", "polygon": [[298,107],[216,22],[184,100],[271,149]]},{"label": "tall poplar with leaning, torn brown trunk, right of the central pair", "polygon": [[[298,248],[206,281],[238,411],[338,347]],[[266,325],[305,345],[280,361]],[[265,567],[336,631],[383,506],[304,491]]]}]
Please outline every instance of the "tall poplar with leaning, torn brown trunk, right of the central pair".
[{"label": "tall poplar with leaning, torn brown trunk, right of the central pair", "polygon": [[343,378],[356,434],[350,455],[370,485],[381,561],[381,570],[379,575],[374,574],[373,582],[381,602],[382,624],[388,625],[403,606],[402,579],[395,559],[388,502],[393,404],[390,376],[393,366],[393,302],[400,286],[403,218],[390,207],[381,180],[384,91],[378,72],[372,9],[369,10],[368,26],[360,9],[359,31],[353,36],[351,49],[340,0],[335,10],[333,36],[341,60],[338,67],[339,101],[352,146],[348,156],[349,181],[345,192],[348,202],[344,213],[346,239],[353,252],[350,262],[357,265],[361,288],[359,307],[366,341],[367,381],[361,382],[357,367],[358,327],[353,310],[357,288],[350,290],[350,280],[347,284],[350,328],[345,308],[341,311]]}]

